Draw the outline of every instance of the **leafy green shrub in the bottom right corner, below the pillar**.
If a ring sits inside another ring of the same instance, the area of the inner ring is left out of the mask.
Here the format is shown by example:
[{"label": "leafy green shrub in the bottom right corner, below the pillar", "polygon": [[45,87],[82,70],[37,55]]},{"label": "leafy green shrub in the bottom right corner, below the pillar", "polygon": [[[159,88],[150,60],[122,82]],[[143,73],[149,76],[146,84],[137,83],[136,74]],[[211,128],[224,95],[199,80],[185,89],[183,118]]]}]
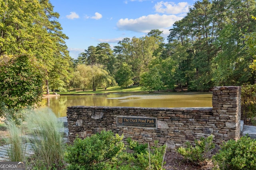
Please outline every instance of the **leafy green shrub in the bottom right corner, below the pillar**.
[{"label": "leafy green shrub in the bottom right corner, below the pillar", "polygon": [[241,137],[238,141],[229,140],[212,158],[217,169],[255,170],[256,140],[250,137]]}]

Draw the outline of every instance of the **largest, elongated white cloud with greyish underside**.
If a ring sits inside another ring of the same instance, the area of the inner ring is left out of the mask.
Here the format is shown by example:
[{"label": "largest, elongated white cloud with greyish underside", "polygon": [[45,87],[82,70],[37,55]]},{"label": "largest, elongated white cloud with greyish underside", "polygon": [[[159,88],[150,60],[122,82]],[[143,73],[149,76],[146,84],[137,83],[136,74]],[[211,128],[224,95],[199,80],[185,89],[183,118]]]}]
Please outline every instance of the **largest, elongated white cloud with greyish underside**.
[{"label": "largest, elongated white cloud with greyish underside", "polygon": [[175,21],[181,19],[182,17],[175,15],[154,14],[142,16],[136,19],[120,19],[116,25],[120,30],[148,33],[152,29],[164,29],[171,27]]}]

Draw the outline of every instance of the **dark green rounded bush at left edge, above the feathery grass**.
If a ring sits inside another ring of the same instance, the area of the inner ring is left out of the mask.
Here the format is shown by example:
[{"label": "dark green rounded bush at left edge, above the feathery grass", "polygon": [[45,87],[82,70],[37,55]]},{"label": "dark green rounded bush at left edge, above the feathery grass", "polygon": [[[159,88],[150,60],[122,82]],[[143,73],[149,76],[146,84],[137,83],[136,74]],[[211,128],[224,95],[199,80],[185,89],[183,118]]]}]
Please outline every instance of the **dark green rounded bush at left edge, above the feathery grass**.
[{"label": "dark green rounded bush at left edge, above the feathery grass", "polygon": [[[20,55],[0,60],[0,116],[22,118],[20,111],[40,104],[44,72],[32,56]],[[13,109],[15,112],[6,109]]]}]

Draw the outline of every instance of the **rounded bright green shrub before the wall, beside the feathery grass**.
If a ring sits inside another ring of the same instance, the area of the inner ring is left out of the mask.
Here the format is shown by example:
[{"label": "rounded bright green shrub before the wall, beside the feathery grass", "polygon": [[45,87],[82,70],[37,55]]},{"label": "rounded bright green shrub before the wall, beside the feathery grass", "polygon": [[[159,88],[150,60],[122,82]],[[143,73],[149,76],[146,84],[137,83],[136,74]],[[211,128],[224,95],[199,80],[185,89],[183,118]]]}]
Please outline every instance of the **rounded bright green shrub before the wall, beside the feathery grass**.
[{"label": "rounded bright green shrub before the wall, beside the feathery grass", "polygon": [[102,131],[83,140],[75,139],[65,153],[66,160],[70,164],[68,169],[105,169],[108,167],[108,162],[124,150],[122,139],[123,135],[114,136],[112,131]]}]

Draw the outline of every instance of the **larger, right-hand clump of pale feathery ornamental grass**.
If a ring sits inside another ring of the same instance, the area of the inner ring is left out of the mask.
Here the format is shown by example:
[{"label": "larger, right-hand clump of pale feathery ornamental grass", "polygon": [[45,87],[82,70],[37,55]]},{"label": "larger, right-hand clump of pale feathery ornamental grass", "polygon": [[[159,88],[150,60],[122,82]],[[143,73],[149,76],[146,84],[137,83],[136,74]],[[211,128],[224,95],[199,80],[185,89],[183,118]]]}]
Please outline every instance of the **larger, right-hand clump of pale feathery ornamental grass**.
[{"label": "larger, right-hand clump of pale feathery ornamental grass", "polygon": [[64,162],[63,124],[50,110],[26,115],[27,127],[33,137],[34,166],[38,169],[61,169]]}]

